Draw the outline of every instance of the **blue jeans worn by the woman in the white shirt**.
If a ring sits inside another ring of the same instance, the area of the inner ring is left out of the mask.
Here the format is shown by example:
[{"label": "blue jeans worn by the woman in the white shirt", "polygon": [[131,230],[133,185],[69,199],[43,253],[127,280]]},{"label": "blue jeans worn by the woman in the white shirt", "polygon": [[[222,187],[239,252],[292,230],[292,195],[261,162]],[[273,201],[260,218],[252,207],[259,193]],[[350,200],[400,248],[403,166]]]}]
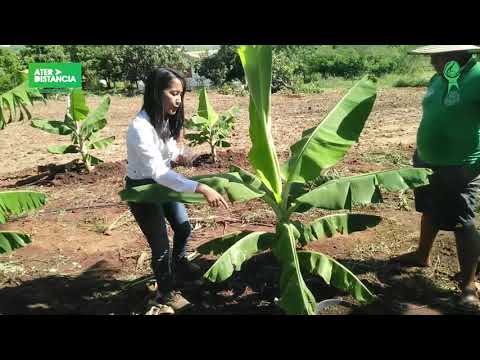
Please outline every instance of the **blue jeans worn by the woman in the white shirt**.
[{"label": "blue jeans worn by the woman in the white shirt", "polygon": [[[146,184],[155,184],[155,182],[151,179],[126,178],[127,188]],[[152,250],[151,266],[157,284],[162,287],[162,290],[169,290],[173,287],[172,262],[185,256],[187,242],[192,233],[185,205],[178,202],[164,204],[129,202],[128,206]],[[170,256],[166,220],[174,232],[172,256]]]}]

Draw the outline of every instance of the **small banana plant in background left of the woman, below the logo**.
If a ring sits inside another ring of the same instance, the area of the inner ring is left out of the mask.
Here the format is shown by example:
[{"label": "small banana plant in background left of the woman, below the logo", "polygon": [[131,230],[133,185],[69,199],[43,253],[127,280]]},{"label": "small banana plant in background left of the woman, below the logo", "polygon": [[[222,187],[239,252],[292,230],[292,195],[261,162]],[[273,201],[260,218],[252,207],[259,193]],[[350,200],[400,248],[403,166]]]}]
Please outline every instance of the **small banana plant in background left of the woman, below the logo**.
[{"label": "small banana plant in background left of the woman, below the logo", "polygon": [[110,107],[110,98],[105,96],[100,105],[93,111],[88,108],[85,95],[81,90],[73,90],[70,94],[70,105],[63,121],[35,118],[31,125],[51,134],[70,135],[71,144],[50,146],[47,150],[51,154],[80,154],[87,171],[103,160],[93,156],[91,150],[101,150],[109,146],[115,136],[101,139],[98,135],[107,125],[107,113]]}]

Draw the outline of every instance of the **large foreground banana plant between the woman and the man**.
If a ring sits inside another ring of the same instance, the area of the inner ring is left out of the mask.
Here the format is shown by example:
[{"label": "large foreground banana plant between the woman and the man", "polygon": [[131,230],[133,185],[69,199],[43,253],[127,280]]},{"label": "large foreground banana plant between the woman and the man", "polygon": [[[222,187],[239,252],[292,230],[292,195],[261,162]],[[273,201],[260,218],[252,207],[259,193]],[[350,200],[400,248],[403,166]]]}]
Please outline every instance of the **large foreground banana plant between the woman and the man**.
[{"label": "large foreground banana plant between the woman and the man", "polygon": [[[430,171],[384,171],[332,179],[310,189],[307,183],[341,161],[358,141],[376,99],[375,79],[365,77],[354,85],[317,126],[303,132],[291,146],[289,160],[280,165],[270,130],[272,49],[242,46],[239,55],[250,91],[252,147],[248,159],[255,174],[232,167],[229,174],[194,179],[226,194],[232,202],[264,200],[276,214],[275,232],[245,231],[200,246],[199,253],[219,256],[204,277],[212,282],[228,279],[245,261],[270,250],[281,265],[278,303],[286,314],[316,313],[316,300],[305,283],[305,274],[320,276],[359,302],[373,301],[375,295],[350,270],[325,254],[304,250],[304,246],[337,233],[365,230],[377,225],[381,218],[350,211],[303,224],[292,220],[292,216],[312,208],[351,210],[355,205],[379,203],[382,187],[403,191],[423,186],[428,184]],[[176,193],[156,184],[124,190],[120,195],[131,202],[205,202],[199,194]]]}]

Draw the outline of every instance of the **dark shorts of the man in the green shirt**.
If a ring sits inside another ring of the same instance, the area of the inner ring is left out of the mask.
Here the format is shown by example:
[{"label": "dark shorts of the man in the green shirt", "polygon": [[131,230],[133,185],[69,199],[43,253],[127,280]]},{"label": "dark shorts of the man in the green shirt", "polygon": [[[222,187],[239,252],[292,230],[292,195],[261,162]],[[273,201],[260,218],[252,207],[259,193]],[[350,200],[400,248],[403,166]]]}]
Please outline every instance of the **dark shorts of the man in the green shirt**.
[{"label": "dark shorts of the man in the green shirt", "polygon": [[432,166],[420,160],[416,152],[413,166],[433,170],[430,184],[414,189],[418,212],[429,214],[440,230],[455,231],[474,223],[480,191],[478,170],[468,166]]}]

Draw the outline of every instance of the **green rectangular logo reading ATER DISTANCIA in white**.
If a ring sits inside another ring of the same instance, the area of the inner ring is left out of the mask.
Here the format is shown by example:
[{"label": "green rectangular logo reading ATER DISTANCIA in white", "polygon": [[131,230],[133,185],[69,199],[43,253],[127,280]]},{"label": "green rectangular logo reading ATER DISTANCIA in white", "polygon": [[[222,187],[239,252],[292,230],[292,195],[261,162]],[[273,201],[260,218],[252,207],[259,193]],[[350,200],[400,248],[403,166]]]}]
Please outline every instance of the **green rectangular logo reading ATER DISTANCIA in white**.
[{"label": "green rectangular logo reading ATER DISTANCIA in white", "polygon": [[80,63],[32,63],[28,66],[28,86],[44,92],[82,87]]}]

